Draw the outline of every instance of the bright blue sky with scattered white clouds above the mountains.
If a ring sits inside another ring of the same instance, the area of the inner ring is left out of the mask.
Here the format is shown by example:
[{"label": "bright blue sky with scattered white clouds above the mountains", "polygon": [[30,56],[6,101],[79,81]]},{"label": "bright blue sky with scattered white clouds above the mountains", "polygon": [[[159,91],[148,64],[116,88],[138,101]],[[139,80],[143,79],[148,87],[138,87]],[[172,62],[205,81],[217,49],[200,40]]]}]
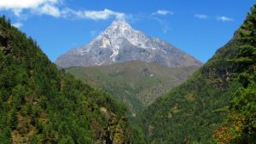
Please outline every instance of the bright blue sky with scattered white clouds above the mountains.
[{"label": "bright blue sky with scattered white clouds above the mountains", "polygon": [[[5,1],[5,2],[4,2]],[[118,19],[206,62],[256,0],[1,0],[5,14],[49,59],[89,43]]]}]

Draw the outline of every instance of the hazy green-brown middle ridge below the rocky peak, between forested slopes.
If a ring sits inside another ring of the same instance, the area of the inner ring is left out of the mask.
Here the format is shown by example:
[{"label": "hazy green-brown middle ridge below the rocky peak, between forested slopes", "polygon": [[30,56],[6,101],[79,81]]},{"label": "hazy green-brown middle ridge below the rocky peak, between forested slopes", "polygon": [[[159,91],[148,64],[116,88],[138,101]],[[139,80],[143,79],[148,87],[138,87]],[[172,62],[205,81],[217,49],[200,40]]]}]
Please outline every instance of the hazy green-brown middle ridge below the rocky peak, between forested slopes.
[{"label": "hazy green-brown middle ridge below the rocky peak, between forested slopes", "polygon": [[123,101],[133,113],[182,84],[199,67],[172,68],[142,61],[110,66],[72,67],[67,72]]}]

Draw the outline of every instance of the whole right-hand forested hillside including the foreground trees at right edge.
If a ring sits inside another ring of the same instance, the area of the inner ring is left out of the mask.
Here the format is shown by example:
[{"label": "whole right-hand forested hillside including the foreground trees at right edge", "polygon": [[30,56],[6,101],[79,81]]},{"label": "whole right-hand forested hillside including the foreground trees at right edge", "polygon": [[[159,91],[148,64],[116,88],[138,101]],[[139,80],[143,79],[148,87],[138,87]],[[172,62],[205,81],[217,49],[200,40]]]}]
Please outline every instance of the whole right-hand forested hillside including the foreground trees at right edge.
[{"label": "whole right-hand forested hillside including the foreground trees at right edge", "polygon": [[138,118],[148,143],[255,143],[256,7],[191,78]]}]

